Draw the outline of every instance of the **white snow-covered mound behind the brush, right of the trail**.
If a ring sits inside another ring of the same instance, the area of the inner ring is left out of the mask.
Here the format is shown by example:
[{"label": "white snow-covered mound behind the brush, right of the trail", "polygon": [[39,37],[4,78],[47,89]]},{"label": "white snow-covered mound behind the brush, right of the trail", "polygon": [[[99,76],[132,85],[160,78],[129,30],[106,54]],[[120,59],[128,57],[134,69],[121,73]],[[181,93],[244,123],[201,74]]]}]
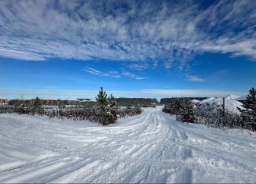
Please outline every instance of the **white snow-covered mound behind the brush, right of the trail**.
[{"label": "white snow-covered mound behind the brush, right of the trail", "polygon": [[[230,95],[225,97],[225,110],[235,113],[235,114],[240,114],[240,111],[237,110],[237,107],[243,109],[242,104],[234,99],[237,99],[238,96]],[[223,99],[222,98],[216,98],[216,97],[211,97],[208,99],[204,99],[202,101],[199,101],[197,108],[199,110],[222,110],[222,105],[223,105]]]}]

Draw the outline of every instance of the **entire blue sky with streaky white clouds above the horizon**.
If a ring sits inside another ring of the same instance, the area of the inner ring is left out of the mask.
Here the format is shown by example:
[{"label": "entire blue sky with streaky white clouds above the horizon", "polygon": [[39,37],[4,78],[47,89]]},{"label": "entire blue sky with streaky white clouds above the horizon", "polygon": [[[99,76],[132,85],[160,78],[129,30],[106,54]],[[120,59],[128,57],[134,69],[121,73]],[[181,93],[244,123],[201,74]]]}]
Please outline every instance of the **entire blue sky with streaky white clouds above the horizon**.
[{"label": "entire blue sky with streaky white clouds above the horizon", "polygon": [[0,96],[243,95],[255,1],[0,2]]}]

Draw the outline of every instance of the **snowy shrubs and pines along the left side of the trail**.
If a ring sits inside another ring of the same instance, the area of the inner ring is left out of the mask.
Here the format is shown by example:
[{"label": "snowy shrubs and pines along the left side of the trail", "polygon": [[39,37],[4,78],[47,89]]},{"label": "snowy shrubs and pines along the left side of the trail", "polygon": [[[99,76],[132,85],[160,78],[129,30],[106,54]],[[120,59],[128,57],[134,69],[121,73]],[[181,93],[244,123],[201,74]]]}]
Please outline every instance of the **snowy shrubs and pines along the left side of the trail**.
[{"label": "snowy shrubs and pines along the left side of the trail", "polygon": [[0,106],[0,113],[18,113],[30,115],[46,115],[49,117],[67,118],[75,121],[87,120],[99,122],[102,125],[113,124],[118,118],[141,114],[141,106],[126,106],[121,108],[114,96],[107,96],[101,88],[97,95],[97,103],[88,103],[75,106],[59,106],[52,109],[45,109],[42,101],[36,97],[31,100],[16,101],[12,106]]}]

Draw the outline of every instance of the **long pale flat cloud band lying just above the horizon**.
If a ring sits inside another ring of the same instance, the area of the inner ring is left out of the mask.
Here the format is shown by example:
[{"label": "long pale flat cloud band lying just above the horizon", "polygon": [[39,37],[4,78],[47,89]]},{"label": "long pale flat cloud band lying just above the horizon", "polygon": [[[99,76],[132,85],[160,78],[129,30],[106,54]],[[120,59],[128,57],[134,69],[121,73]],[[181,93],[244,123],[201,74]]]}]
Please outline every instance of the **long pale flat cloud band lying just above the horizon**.
[{"label": "long pale flat cloud band lying just above the horizon", "polygon": [[[105,89],[106,90],[106,89]],[[141,97],[141,98],[166,98],[166,97],[210,97],[210,96],[228,96],[230,94],[243,96],[246,92],[232,92],[207,89],[144,89],[133,92],[127,91],[108,91],[108,94],[113,94],[116,97]],[[0,96],[8,99],[16,99],[24,96],[24,98],[35,98],[35,96],[49,96],[53,99],[64,98],[91,98],[97,96],[98,90],[17,90],[0,88]]]}]

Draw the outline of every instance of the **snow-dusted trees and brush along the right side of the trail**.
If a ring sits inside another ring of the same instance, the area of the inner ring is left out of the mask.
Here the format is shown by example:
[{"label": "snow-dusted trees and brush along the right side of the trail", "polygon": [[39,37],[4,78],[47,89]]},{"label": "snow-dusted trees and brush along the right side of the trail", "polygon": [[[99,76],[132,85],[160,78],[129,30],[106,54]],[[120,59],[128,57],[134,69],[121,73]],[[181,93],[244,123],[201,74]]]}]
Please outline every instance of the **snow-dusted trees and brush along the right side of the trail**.
[{"label": "snow-dusted trees and brush along the right side of the trail", "polygon": [[176,115],[178,121],[206,124],[212,128],[246,128],[256,131],[256,90],[251,88],[239,114],[227,110],[199,110],[188,98],[168,99],[163,112]]}]

